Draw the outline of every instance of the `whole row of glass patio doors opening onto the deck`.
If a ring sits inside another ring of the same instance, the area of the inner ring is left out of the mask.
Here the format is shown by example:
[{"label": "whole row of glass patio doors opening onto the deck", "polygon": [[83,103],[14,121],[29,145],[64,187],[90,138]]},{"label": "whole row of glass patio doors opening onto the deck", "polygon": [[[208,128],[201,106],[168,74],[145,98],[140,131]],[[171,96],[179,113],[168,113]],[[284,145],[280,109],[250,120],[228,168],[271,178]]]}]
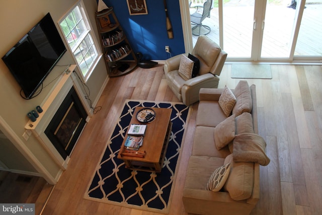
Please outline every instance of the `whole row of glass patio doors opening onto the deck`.
[{"label": "whole row of glass patio doors opening onto the deck", "polygon": [[228,60],[322,60],[321,11],[314,0],[214,0],[203,24]]}]

